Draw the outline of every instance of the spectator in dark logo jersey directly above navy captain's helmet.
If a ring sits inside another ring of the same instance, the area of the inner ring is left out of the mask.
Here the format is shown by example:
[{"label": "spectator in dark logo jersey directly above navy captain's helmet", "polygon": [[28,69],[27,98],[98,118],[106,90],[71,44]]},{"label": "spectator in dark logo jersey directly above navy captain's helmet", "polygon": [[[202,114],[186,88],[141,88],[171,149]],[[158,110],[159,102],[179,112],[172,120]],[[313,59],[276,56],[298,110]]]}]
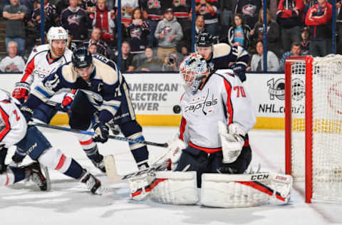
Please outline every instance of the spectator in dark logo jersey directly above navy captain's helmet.
[{"label": "spectator in dark logo jersey directly above navy captain's helmet", "polygon": [[69,0],[69,5],[62,11],[61,25],[71,32],[73,42],[79,45],[88,38],[88,15],[78,6],[77,0]]}]

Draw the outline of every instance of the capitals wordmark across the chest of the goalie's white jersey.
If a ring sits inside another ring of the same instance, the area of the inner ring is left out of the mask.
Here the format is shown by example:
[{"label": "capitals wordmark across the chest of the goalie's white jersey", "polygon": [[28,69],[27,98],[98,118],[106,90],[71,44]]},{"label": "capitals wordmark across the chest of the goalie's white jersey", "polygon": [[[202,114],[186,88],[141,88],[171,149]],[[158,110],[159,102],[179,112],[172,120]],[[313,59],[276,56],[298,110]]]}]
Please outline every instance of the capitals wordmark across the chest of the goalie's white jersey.
[{"label": "capitals wordmark across the chest of the goalie's white jersey", "polygon": [[185,107],[185,112],[196,112],[202,110],[204,115],[214,112],[214,106],[217,105],[218,100],[214,95],[209,96],[209,89],[207,95],[196,95],[192,101]]}]

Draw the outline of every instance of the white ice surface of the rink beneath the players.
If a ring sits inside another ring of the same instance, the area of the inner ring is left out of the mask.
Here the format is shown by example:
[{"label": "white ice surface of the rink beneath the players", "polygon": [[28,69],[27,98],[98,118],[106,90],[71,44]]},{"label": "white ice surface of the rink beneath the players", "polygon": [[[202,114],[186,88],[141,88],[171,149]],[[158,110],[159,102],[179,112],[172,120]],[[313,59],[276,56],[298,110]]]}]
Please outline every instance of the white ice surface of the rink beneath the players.
[{"label": "white ice surface of the rink beneath the players", "polygon": [[[291,202],[285,206],[219,209],[135,202],[129,198],[126,182],[108,184],[107,177],[86,158],[73,133],[46,128],[41,131],[54,146],[95,174],[108,192],[102,196],[90,194],[83,184],[50,170],[51,192],[40,192],[31,182],[0,187],[0,224],[342,224],[341,204],[306,204],[298,187],[292,190]],[[152,142],[167,142],[176,131],[177,127],[143,127],[145,139]],[[252,165],[260,163],[261,171],[284,172],[284,131],[252,130],[249,137]],[[120,174],[137,169],[127,142],[108,140],[99,145],[99,150],[103,155],[115,155]],[[149,147],[150,157],[165,150]],[[7,163],[12,152],[13,148]],[[25,159],[24,164],[28,162]]]}]

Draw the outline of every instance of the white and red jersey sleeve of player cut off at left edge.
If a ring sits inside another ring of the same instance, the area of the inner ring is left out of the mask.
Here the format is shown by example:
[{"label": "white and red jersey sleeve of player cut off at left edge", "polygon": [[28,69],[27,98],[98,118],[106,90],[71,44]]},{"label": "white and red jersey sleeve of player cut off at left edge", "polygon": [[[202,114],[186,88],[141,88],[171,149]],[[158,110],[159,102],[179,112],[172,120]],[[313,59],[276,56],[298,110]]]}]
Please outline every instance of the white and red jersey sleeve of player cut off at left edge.
[{"label": "white and red jersey sleeve of player cut off at left edge", "polygon": [[0,145],[11,147],[26,135],[27,123],[16,100],[0,89]]}]

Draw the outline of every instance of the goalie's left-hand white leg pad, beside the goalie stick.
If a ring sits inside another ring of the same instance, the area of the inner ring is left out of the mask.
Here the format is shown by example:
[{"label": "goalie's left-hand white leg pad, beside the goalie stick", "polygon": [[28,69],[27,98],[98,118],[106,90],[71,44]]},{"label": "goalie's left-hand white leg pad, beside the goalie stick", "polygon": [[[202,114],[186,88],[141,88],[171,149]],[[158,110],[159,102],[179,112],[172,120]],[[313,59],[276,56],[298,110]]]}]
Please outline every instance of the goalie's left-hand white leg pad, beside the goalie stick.
[{"label": "goalie's left-hand white leg pad, beside the goalie stick", "polygon": [[154,202],[196,204],[199,201],[196,172],[155,172],[150,179],[150,199]]}]

